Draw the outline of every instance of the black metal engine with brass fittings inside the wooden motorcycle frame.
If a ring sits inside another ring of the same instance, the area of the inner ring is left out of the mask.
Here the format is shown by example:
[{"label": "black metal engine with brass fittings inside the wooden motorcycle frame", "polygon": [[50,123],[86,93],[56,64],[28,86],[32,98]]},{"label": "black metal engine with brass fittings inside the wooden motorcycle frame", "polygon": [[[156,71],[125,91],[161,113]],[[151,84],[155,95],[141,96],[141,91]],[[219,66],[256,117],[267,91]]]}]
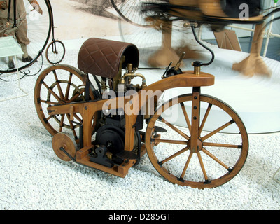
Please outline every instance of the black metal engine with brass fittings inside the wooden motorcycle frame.
[{"label": "black metal engine with brass fittings inside the wooden motorcycle frame", "polygon": [[[101,93],[107,90],[113,91],[116,97],[124,96],[127,91],[139,91],[146,87],[146,78],[136,73],[137,68],[132,68],[132,64],[127,65],[125,74],[122,76],[122,62],[125,60],[123,56],[120,63],[118,75],[114,78],[102,78],[99,89]],[[132,79],[140,77],[142,83],[134,85]],[[123,111],[116,111],[114,114],[100,114],[98,121],[98,129],[96,131],[95,140],[93,142],[94,149],[90,154],[90,161],[113,167],[120,165],[124,160],[140,158],[141,136],[144,132],[140,132],[144,126],[144,115],[137,117],[135,127],[134,148],[132,151],[125,151],[125,115]]]}]

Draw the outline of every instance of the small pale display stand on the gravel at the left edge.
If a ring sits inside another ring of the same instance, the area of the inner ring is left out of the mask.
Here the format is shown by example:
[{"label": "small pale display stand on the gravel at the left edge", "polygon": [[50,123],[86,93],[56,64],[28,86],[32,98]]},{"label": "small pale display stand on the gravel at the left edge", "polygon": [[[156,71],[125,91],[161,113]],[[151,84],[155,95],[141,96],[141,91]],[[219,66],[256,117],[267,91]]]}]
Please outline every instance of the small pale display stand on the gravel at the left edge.
[{"label": "small pale display stand on the gravel at the left edge", "polygon": [[19,97],[26,97],[28,94],[25,92],[25,90],[20,87],[20,76],[18,71],[18,60],[17,55],[22,55],[22,49],[20,48],[20,45],[18,45],[17,41],[15,41],[15,38],[13,36],[7,36],[0,38],[0,57],[10,57],[13,56],[15,59],[15,66],[17,68],[18,73],[18,89],[23,92],[23,94],[17,95],[15,97],[8,97],[6,99],[0,99],[0,102],[15,99]]}]

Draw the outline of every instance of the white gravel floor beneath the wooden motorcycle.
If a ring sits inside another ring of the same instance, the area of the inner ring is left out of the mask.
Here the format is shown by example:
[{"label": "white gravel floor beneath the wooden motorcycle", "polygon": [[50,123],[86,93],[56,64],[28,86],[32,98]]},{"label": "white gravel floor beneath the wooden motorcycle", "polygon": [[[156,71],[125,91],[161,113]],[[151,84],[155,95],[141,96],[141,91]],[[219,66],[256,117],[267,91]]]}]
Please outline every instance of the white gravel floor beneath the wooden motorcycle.
[{"label": "white gravel floor beneath the wooden motorcycle", "polygon": [[[76,52],[63,63],[76,66]],[[280,133],[250,134],[243,169],[218,188],[169,183],[147,155],[122,179],[57,158],[34,107],[37,77],[20,80],[27,96],[0,102],[0,209],[280,209]],[[0,81],[1,99],[20,94],[17,82]]]}]

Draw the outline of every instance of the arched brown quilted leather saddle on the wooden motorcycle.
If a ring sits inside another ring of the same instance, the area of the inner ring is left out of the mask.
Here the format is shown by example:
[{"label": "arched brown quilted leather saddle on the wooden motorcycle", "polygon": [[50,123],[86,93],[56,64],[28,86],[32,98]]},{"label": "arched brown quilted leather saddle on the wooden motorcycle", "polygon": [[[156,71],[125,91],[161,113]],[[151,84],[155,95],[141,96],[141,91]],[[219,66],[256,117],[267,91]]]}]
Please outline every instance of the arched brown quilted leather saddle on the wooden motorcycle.
[{"label": "arched brown quilted leather saddle on the wooden motorcycle", "polygon": [[78,69],[104,78],[114,78],[120,68],[120,60],[125,56],[122,69],[127,64],[139,66],[139,50],[132,43],[111,41],[101,38],[89,38],[78,53]]}]

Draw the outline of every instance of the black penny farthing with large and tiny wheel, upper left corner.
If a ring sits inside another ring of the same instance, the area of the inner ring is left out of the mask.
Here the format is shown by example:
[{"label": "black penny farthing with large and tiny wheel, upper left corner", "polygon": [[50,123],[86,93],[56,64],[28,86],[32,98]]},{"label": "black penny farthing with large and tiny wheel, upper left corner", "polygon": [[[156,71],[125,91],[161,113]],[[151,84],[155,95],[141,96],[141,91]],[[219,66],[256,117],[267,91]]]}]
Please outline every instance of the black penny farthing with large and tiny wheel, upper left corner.
[{"label": "black penny farthing with large and tiny wheel, upper left corner", "polygon": [[[6,0],[0,1],[0,39],[13,36],[18,41],[19,32],[27,30],[28,59],[20,55],[18,68],[8,64],[8,57],[0,59],[0,73],[13,73],[27,69],[38,62],[46,48],[45,57],[50,64],[62,61],[65,47],[61,41],[55,40],[54,18],[49,0]],[[52,39],[48,43],[50,36]],[[18,41],[20,42],[20,41]]]}]

